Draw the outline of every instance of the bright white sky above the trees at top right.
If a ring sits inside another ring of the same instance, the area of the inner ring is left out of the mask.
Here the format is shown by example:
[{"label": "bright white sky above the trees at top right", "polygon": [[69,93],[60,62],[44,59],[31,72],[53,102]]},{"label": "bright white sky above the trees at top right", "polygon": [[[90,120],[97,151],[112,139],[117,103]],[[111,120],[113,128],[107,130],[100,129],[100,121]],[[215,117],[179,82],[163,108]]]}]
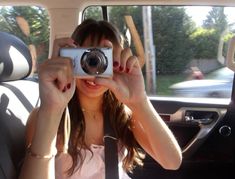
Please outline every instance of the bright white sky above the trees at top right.
[{"label": "bright white sky above the trees at top right", "polygon": [[[186,12],[196,22],[198,26],[202,25],[211,7],[207,6],[189,6],[186,7]],[[235,7],[226,7],[224,13],[227,15],[228,21],[235,22]]]}]

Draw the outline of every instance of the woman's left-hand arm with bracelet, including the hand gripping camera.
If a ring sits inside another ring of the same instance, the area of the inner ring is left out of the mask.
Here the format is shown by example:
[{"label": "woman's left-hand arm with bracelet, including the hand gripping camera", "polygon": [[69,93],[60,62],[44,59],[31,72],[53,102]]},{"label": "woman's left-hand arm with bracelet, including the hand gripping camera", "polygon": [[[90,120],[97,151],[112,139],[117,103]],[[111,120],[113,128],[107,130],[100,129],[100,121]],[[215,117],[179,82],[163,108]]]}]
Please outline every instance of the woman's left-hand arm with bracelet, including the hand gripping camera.
[{"label": "woman's left-hand arm with bracelet, including the hand gripping camera", "polygon": [[[75,91],[72,62],[57,57],[60,47],[69,45],[70,39],[54,44],[53,59],[39,65],[39,94],[41,104],[29,116],[27,143],[30,144],[20,179],[54,179],[56,136],[62,114]],[[70,46],[70,45],[69,45]]]}]

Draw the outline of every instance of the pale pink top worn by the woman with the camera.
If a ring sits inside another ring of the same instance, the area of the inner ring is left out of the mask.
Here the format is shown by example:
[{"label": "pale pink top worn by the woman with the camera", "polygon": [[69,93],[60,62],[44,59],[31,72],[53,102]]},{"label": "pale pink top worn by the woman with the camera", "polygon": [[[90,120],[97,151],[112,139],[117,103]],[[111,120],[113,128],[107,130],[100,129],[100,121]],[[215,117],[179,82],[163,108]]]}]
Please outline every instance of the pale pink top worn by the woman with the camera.
[{"label": "pale pink top worn by the woman with the camera", "polygon": [[[105,179],[104,146],[91,145],[92,153],[83,150],[86,155],[80,170],[75,170],[72,176],[67,176],[66,171],[71,167],[72,158],[69,154],[61,153],[55,159],[56,179]],[[121,161],[121,160],[119,160]],[[119,178],[131,179],[123,170],[122,162],[119,162]]]}]

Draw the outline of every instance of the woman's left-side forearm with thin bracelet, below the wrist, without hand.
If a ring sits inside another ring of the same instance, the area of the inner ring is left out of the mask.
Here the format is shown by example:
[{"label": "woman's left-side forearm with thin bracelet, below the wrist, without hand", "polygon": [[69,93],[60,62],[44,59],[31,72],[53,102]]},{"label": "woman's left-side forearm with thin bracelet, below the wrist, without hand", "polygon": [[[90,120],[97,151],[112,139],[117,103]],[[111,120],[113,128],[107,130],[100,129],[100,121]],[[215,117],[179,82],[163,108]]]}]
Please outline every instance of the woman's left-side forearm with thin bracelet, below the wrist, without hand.
[{"label": "woman's left-side forearm with thin bracelet, below the wrist, without hand", "polygon": [[[26,142],[31,145],[26,153],[20,179],[53,179],[55,142],[58,124],[53,117],[41,109],[35,109],[29,117],[26,128]],[[50,119],[49,119],[50,118]],[[45,125],[46,124],[46,125]],[[44,158],[45,157],[45,158]]]}]

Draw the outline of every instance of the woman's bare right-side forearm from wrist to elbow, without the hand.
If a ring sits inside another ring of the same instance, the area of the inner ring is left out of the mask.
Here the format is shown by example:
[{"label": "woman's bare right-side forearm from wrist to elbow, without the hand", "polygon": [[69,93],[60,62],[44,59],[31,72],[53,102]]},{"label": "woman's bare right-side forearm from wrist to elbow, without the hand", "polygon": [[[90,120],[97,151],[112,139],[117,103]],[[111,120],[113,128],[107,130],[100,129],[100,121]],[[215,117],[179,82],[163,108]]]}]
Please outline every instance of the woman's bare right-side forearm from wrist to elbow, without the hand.
[{"label": "woman's bare right-side forearm from wrist to elbow, without the hand", "polygon": [[138,143],[163,168],[175,170],[181,165],[181,149],[147,96],[129,105],[132,110],[132,131]]}]

